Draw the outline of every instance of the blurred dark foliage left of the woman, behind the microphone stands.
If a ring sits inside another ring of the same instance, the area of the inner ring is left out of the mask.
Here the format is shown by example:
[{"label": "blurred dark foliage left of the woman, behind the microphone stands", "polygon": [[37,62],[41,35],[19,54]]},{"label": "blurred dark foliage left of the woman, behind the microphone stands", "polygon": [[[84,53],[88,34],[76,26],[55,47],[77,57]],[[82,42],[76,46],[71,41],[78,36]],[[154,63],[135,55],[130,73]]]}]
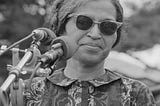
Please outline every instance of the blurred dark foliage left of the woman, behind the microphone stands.
[{"label": "blurred dark foliage left of the woman, behind the microphone stands", "polygon": [[[0,45],[9,46],[29,35],[33,29],[42,27],[44,15],[44,0],[0,0]],[[21,43],[20,48],[28,48],[29,41]],[[8,76],[6,65],[12,64],[11,59],[10,52],[0,57],[1,79]]]}]

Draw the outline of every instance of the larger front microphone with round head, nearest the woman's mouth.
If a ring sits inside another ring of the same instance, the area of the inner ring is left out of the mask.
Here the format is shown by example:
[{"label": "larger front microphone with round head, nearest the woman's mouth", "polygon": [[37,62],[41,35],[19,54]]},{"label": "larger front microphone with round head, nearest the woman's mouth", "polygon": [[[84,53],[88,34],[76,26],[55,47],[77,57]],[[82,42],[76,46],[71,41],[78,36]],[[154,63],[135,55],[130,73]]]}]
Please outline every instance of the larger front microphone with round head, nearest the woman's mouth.
[{"label": "larger front microphone with round head, nearest the woman's mouth", "polygon": [[43,66],[47,66],[57,59],[65,61],[71,58],[77,49],[78,45],[76,40],[68,36],[58,37],[53,40],[51,50],[40,57],[40,62]]}]

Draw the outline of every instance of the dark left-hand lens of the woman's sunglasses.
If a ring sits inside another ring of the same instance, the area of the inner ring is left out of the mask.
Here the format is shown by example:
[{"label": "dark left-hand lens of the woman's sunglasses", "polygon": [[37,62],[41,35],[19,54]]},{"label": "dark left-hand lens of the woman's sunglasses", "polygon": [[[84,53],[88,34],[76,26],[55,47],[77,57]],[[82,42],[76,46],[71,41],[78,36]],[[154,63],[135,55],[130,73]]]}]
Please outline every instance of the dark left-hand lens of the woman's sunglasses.
[{"label": "dark left-hand lens of the woman's sunglasses", "polygon": [[80,30],[88,30],[92,26],[92,24],[92,19],[87,16],[79,15],[77,17],[76,25]]}]

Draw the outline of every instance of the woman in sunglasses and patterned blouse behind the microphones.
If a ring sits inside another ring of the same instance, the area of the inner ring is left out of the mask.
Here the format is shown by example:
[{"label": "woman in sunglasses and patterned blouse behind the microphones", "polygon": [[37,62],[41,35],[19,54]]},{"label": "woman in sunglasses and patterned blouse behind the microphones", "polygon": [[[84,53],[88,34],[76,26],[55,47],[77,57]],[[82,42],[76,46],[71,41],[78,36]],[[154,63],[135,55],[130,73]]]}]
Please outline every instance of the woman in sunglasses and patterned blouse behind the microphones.
[{"label": "woman in sunglasses and patterned blouse behind the microphones", "polygon": [[66,66],[25,89],[26,106],[155,106],[141,82],[104,68],[120,39],[123,11],[117,0],[56,0],[48,23],[57,36],[68,36],[77,50]]}]

